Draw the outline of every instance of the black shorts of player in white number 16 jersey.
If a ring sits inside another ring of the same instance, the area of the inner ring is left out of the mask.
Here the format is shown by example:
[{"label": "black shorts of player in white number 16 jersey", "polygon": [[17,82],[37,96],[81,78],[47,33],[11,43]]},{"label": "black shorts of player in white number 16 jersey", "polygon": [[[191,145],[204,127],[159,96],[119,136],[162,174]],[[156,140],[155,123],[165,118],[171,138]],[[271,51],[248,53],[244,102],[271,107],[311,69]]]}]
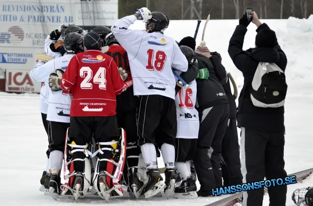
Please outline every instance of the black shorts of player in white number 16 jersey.
[{"label": "black shorts of player in white number 16 jersey", "polygon": [[176,138],[175,162],[193,160],[197,151],[198,139]]}]

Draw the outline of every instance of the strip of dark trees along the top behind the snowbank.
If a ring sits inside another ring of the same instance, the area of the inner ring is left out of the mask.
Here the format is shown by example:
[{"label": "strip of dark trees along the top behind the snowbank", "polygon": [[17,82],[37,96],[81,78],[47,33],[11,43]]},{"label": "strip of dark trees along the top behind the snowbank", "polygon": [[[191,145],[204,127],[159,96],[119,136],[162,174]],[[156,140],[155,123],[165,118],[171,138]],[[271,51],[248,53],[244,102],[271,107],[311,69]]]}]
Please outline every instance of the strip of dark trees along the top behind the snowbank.
[{"label": "strip of dark trees along the top behind the snowbank", "polygon": [[246,6],[252,7],[260,19],[307,19],[313,14],[313,0],[119,0],[118,4],[119,18],[144,6],[173,20],[206,19],[208,14],[211,19],[240,19]]}]

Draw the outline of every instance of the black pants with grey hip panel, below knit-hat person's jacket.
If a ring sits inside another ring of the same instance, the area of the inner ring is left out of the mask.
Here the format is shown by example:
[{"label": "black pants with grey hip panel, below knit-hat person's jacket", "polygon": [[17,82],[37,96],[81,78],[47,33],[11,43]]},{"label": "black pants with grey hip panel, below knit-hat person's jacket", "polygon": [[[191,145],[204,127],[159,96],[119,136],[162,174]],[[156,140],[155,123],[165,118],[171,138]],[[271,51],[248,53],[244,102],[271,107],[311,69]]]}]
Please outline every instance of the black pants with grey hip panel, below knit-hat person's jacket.
[{"label": "black pants with grey hip panel, below knit-hat person's jacket", "polygon": [[212,192],[212,188],[223,186],[220,162],[229,106],[221,104],[198,112],[200,129],[194,164],[200,190]]}]

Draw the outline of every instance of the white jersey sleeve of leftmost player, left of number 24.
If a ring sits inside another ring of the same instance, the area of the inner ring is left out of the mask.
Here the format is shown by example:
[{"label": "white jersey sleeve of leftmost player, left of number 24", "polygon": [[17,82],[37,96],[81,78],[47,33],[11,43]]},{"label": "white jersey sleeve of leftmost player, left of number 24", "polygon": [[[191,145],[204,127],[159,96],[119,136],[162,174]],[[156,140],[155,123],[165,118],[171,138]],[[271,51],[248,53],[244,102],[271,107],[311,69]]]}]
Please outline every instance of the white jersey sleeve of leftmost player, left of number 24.
[{"label": "white jersey sleeve of leftmost player, left of number 24", "polygon": [[35,81],[46,82],[52,73],[55,73],[54,60],[48,61],[43,65],[42,63],[37,63],[29,74]]}]

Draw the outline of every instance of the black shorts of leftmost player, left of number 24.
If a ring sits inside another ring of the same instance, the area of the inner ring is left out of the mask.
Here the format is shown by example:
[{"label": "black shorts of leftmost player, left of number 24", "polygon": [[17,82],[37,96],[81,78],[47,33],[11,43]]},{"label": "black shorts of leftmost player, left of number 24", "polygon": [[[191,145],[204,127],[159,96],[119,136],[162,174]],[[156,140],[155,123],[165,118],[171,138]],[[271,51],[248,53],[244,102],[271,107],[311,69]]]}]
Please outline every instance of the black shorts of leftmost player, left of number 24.
[{"label": "black shorts of leftmost player, left of number 24", "polygon": [[49,151],[59,150],[64,152],[65,139],[69,123],[48,122]]}]

